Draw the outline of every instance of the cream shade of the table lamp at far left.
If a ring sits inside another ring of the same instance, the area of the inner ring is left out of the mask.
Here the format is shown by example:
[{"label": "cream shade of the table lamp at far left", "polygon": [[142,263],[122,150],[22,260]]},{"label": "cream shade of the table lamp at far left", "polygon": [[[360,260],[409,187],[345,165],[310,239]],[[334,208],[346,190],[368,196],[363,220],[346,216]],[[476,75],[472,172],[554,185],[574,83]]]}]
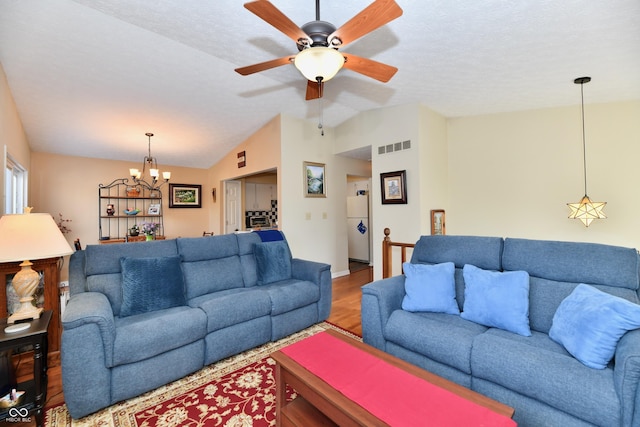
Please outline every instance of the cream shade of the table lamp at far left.
[{"label": "cream shade of the table lamp at far left", "polygon": [[0,262],[56,258],[71,253],[69,242],[48,213],[0,218]]}]

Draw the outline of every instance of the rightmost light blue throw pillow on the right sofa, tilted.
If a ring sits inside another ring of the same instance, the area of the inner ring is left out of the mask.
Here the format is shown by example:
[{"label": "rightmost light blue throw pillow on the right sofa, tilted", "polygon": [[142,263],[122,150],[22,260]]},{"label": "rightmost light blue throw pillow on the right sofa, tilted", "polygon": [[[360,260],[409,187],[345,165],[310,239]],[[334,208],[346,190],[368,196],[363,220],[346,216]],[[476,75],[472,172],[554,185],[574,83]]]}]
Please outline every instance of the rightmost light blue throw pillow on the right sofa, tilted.
[{"label": "rightmost light blue throw pillow on the right sofa, tilted", "polygon": [[549,337],[586,366],[604,369],[618,341],[640,328],[640,305],[580,284],[558,306]]}]

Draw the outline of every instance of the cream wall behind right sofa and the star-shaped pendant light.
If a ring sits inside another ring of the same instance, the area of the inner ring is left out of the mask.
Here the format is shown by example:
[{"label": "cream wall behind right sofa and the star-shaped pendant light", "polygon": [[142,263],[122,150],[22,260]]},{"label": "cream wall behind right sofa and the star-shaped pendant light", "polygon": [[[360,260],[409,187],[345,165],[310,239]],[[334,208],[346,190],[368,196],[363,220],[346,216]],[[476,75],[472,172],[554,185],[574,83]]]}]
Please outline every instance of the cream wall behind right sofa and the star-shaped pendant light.
[{"label": "cream wall behind right sofa and the star-shaped pendant light", "polygon": [[588,195],[605,220],[586,228],[580,105],[448,120],[447,234],[640,247],[640,101],[585,105]]}]

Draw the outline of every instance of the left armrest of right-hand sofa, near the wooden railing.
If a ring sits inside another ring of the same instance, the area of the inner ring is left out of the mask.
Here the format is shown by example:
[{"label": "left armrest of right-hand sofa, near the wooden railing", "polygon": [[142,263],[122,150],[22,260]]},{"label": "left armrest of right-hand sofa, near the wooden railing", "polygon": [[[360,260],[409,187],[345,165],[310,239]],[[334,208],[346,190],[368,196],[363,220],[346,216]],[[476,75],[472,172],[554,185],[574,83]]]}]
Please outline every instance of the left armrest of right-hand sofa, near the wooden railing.
[{"label": "left armrest of right-hand sofa, near the wooden railing", "polygon": [[362,287],[362,338],[385,350],[384,326],[391,313],[402,308],[404,275],[377,280]]}]

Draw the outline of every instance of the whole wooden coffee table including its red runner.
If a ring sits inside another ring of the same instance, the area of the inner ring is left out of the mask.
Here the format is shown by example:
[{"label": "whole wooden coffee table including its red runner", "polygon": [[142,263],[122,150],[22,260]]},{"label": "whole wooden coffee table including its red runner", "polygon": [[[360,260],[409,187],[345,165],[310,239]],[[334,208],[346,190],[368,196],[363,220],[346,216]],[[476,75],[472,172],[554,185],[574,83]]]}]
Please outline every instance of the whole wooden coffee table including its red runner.
[{"label": "whole wooden coffee table including its red runner", "polygon": [[[437,415],[439,417],[448,417],[458,418],[458,412],[462,407],[471,409],[477,408],[480,412],[482,412],[482,416],[486,417],[489,414],[490,417],[495,416],[496,420],[500,423],[497,425],[513,425],[515,426],[515,422],[511,420],[513,416],[514,410],[513,408],[504,405],[500,402],[497,402],[493,399],[490,399],[486,396],[483,396],[479,393],[476,393],[472,390],[467,389],[461,385],[453,383],[449,380],[441,378],[433,373],[427,372],[423,369],[420,369],[414,365],[411,365],[397,357],[394,357],[390,354],[387,354],[383,351],[380,351],[372,346],[367,344],[363,344],[355,339],[352,339],[344,334],[341,334],[336,331],[327,330],[325,332],[321,332],[320,334],[328,334],[327,336],[322,337],[322,343],[320,344],[319,338],[316,340],[316,346],[322,345],[323,351],[328,351],[332,354],[337,354],[342,350],[348,350],[349,360],[354,362],[354,367],[366,365],[371,362],[371,357],[375,358],[374,363],[382,361],[387,365],[382,365],[383,367],[388,367],[389,365],[392,367],[392,370],[395,368],[399,368],[401,371],[395,371],[396,373],[401,372],[402,375],[394,375],[392,376],[392,382],[400,382],[399,384],[390,384],[389,393],[391,390],[401,390],[403,388],[411,388],[412,390],[420,389],[420,396],[422,402],[435,401],[435,394],[445,394],[449,399],[448,405],[437,408],[439,412]],[[318,334],[319,335],[319,334]],[[277,426],[387,426],[389,425],[385,421],[381,420],[374,414],[370,412],[370,410],[365,409],[359,403],[351,400],[349,397],[345,396],[342,391],[338,391],[332,385],[330,385],[327,381],[331,382],[331,379],[325,381],[320,378],[316,374],[310,371],[317,368],[316,365],[322,365],[324,362],[320,360],[320,358],[316,358],[313,360],[313,363],[299,363],[298,360],[304,360],[304,358],[300,358],[296,356],[292,350],[294,346],[298,346],[299,351],[304,351],[304,347],[306,346],[305,341],[309,341],[309,354],[313,358],[313,352],[318,349],[318,347],[314,347],[310,340],[314,339],[315,335],[307,338],[298,343],[292,344],[289,347],[285,347],[279,351],[274,352],[271,357],[276,362],[276,425]],[[335,339],[330,339],[329,337],[333,337]],[[337,340],[336,340],[337,339]],[[345,347],[344,344],[347,346]],[[334,352],[335,347],[335,352]],[[354,349],[360,350],[353,351]],[[287,354],[289,353],[289,354]],[[327,353],[324,353],[325,355]],[[359,359],[362,358],[362,361]],[[296,360],[297,359],[297,360]],[[309,359],[307,359],[309,360]],[[331,358],[327,358],[326,363],[335,364],[335,360],[331,361]],[[307,367],[303,366],[304,364],[308,365]],[[380,365],[376,365],[375,370],[372,371],[372,375],[376,376],[376,372],[381,372]],[[328,367],[332,368],[331,366]],[[386,369],[386,368],[384,368]],[[382,369],[382,370],[384,370]],[[357,369],[354,369],[354,372]],[[317,372],[317,371],[316,371]],[[406,373],[409,375],[407,376]],[[358,375],[355,373],[354,375]],[[398,378],[395,380],[395,378]],[[417,377],[417,378],[416,378]],[[349,378],[349,372],[343,373],[340,375],[339,380],[347,380],[347,383],[351,381],[351,384],[347,384],[347,389],[359,382],[358,378]],[[426,382],[428,384],[421,384],[422,382]],[[293,387],[297,393],[297,397],[290,402],[286,400],[286,385]],[[406,385],[406,387],[405,387]],[[431,389],[429,395],[424,394],[424,390],[421,387],[416,387],[416,385],[421,385],[426,388]],[[433,387],[436,386],[436,387]],[[397,387],[397,388],[396,388]],[[442,390],[445,390],[444,392]],[[344,391],[344,390],[343,390]],[[450,392],[450,393],[449,393]],[[349,392],[347,392],[349,394]],[[365,393],[366,394],[366,393]],[[388,397],[388,396],[387,396]],[[452,399],[452,400],[451,400]],[[469,404],[469,402],[473,402],[473,404]],[[384,400],[384,405],[393,404],[393,402]],[[379,405],[379,406],[384,406]],[[373,405],[375,406],[375,405]],[[424,405],[418,405],[424,406]],[[369,409],[372,406],[369,405]],[[394,411],[394,408],[387,409]],[[406,411],[406,407],[398,408],[398,411]],[[418,408],[423,410],[424,408]],[[487,411],[488,409],[488,411]],[[376,412],[375,408],[373,412]],[[433,414],[433,413],[431,413]],[[431,415],[430,414],[430,415]],[[421,417],[424,416],[424,413],[419,414],[416,412],[416,416]],[[429,416],[429,418],[431,418]],[[474,419],[474,418],[472,418]],[[412,418],[413,423],[419,422],[420,418]],[[425,421],[425,420],[423,420]],[[477,421],[474,419],[474,421]],[[466,421],[465,421],[466,423]],[[415,424],[414,424],[415,425]],[[473,424],[468,424],[473,425]]]}]

